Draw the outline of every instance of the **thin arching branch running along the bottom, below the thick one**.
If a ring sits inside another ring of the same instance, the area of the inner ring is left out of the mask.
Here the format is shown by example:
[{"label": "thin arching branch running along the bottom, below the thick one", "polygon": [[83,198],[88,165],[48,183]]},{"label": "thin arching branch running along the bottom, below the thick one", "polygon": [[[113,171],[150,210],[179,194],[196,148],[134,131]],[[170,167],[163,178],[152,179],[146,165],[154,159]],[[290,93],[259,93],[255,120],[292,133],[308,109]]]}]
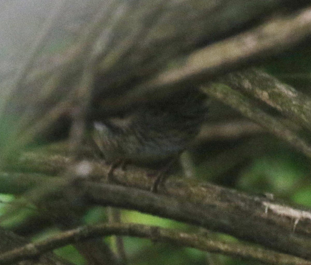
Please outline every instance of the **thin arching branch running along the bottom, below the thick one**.
[{"label": "thin arching branch running along the bottom, below the thick one", "polygon": [[183,247],[192,247],[212,253],[220,253],[233,257],[250,259],[273,265],[310,265],[311,262],[287,254],[277,253],[272,250],[250,246],[238,242],[211,240],[206,235],[179,232],[158,226],[140,224],[100,224],[82,226],[77,229],[62,232],[35,243],[30,243],[20,248],[13,249],[0,255],[0,263],[12,264],[17,261],[37,258],[47,251],[74,244],[86,239],[108,235],[127,235],[148,238],[156,242],[165,242]]}]

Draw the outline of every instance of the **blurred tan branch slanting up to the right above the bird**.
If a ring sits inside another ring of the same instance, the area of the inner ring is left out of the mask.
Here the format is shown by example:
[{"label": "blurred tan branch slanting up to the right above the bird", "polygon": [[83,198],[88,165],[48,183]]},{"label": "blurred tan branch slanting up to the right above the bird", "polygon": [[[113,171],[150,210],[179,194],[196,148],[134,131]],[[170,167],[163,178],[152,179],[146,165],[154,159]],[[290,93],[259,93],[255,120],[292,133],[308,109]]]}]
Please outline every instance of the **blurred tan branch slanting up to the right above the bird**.
[{"label": "blurred tan branch slanting up to the right above the bird", "polygon": [[[258,28],[193,52],[183,58],[181,63],[176,63],[177,66],[132,89],[121,99],[109,99],[103,105],[105,108],[124,108],[137,103],[137,100],[154,100],[159,95],[163,97],[189,83],[192,86],[202,84],[217,75],[262,62],[310,37],[310,29],[311,8],[300,11],[296,16],[274,19]],[[279,34],[276,35],[276,32]]]}]

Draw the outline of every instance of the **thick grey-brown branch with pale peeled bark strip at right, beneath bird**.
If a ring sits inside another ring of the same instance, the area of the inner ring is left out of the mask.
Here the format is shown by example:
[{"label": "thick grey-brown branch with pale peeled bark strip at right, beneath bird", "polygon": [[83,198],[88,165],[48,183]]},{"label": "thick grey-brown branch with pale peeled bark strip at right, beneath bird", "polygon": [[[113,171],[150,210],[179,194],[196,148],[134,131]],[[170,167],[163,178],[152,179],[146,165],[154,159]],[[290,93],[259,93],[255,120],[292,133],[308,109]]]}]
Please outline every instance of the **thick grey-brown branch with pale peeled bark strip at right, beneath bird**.
[{"label": "thick grey-brown branch with pale peeled bark strip at right, beneath bird", "polygon": [[96,204],[196,224],[311,259],[310,212],[214,185],[183,185],[181,181],[167,183],[167,194],[179,193],[176,199],[116,185],[82,184]]}]

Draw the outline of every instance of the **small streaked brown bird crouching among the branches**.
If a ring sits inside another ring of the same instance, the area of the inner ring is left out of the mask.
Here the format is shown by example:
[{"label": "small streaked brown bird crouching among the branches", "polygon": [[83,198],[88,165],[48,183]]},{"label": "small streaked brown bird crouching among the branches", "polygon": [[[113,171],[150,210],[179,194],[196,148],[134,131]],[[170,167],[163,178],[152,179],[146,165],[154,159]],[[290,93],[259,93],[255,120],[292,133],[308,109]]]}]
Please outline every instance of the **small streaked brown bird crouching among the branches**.
[{"label": "small streaked brown bird crouching among the branches", "polygon": [[187,90],[127,116],[95,121],[94,140],[107,163],[168,164],[187,148],[206,115],[206,96]]}]

